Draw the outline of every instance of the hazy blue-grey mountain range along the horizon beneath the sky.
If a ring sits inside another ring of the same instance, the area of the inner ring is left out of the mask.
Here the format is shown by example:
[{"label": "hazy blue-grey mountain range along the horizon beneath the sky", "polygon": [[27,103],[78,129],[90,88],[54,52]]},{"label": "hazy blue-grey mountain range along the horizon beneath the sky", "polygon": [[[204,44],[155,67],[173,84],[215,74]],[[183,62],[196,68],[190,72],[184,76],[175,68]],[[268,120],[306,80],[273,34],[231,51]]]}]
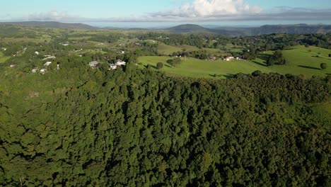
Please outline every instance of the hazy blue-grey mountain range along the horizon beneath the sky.
[{"label": "hazy blue-grey mountain range along the horizon beneath the sky", "polygon": [[[87,29],[87,30],[98,30],[98,29],[122,29],[122,30],[156,30],[156,29],[145,29],[145,28],[98,28],[89,26],[83,23],[59,23],[56,21],[26,21],[26,22],[6,22],[0,23],[0,25],[13,25],[13,26],[30,26],[40,28],[69,28],[69,29]],[[159,30],[159,29],[158,29]],[[239,35],[264,35],[272,33],[330,33],[331,26],[327,25],[274,25],[274,26],[260,26],[260,27],[214,27],[205,28],[194,24],[185,24],[175,26],[172,28],[162,29],[170,33],[216,33],[227,36],[239,36]]]}]

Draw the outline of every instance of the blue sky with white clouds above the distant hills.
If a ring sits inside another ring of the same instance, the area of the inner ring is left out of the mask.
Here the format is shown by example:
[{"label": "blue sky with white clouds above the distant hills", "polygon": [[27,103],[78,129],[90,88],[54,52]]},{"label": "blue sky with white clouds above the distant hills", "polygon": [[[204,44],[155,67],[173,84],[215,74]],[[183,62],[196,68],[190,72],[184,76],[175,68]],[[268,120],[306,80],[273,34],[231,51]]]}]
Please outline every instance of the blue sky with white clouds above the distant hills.
[{"label": "blue sky with white clouds above the distant hills", "polygon": [[331,24],[330,0],[11,0],[0,21],[60,21],[109,27]]}]

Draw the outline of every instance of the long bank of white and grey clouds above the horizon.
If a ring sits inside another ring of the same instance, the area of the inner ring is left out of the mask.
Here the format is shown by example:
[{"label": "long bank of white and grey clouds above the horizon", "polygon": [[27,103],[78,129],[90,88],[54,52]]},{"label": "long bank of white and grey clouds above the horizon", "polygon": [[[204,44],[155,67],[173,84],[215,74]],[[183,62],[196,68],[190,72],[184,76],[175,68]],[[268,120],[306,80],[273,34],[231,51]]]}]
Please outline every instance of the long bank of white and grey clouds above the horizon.
[{"label": "long bank of white and grey clouds above the horizon", "polygon": [[[329,21],[331,9],[295,8],[288,6],[263,10],[244,0],[194,0],[173,10],[145,13],[143,16],[84,18],[52,10],[31,13],[28,21],[62,22],[201,22],[201,21]],[[25,18],[26,21],[26,18]]]}]

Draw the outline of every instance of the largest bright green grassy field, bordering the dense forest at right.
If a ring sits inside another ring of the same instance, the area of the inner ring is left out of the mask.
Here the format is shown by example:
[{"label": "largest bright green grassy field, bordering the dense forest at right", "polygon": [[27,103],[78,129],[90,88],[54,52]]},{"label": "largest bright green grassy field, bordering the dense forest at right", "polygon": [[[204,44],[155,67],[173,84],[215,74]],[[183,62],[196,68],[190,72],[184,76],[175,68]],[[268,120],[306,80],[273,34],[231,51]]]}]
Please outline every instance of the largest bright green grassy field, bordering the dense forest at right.
[{"label": "largest bright green grassy field, bordering the dense forest at right", "polygon": [[[250,74],[255,70],[260,70],[265,73],[303,74],[306,78],[310,78],[313,75],[325,77],[327,74],[331,74],[331,59],[328,57],[331,50],[320,49],[318,47],[310,47],[310,50],[312,51],[311,53],[303,46],[296,46],[291,50],[285,50],[283,52],[284,57],[289,60],[289,64],[274,65],[272,67],[267,67],[265,60],[260,58],[253,61],[238,60],[232,62],[182,58],[183,62],[178,67],[171,67],[170,64],[167,63],[167,60],[171,59],[169,57],[139,57],[139,62],[141,63],[141,68],[150,64],[154,69],[156,69],[158,62],[163,62],[165,66],[161,71],[172,76],[211,79],[225,79],[239,72]],[[315,57],[318,52],[321,53],[320,57]],[[268,54],[272,54],[272,52],[266,52],[266,54],[262,55]],[[327,69],[320,69],[320,63],[327,63]],[[216,74],[217,77],[214,77],[214,74]]]}]

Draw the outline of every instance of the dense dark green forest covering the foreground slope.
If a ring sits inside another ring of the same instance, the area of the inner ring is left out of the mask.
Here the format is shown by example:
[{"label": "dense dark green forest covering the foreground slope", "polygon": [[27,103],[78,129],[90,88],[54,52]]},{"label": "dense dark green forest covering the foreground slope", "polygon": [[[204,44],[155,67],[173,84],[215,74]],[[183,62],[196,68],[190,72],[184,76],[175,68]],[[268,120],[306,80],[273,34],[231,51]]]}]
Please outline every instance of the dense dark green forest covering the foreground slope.
[{"label": "dense dark green forest covering the foreground slope", "polygon": [[2,67],[2,186],[331,184],[330,77],[64,66]]}]

